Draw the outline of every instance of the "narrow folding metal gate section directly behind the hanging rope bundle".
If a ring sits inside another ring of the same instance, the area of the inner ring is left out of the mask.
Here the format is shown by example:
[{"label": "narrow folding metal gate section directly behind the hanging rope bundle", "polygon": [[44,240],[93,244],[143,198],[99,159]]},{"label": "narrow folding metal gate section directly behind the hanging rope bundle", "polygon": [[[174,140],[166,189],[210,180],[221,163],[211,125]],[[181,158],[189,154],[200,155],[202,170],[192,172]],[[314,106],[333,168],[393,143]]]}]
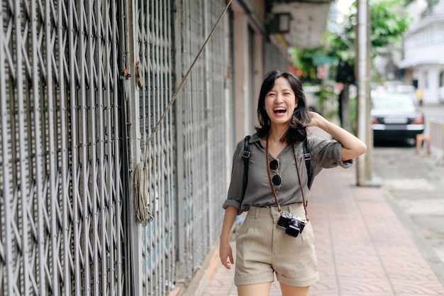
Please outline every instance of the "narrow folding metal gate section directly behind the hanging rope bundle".
[{"label": "narrow folding metal gate section directly behind the hanging rope bundle", "polygon": [[[147,144],[171,97],[172,40],[170,0],[134,1],[135,60],[143,77],[134,102],[138,120],[133,143],[138,162],[146,161],[149,176],[148,207],[153,220],[136,237],[140,243],[141,267],[136,270],[139,295],[167,295],[174,286],[174,128],[168,113],[161,128]],[[137,196],[135,198],[138,198]]]}]

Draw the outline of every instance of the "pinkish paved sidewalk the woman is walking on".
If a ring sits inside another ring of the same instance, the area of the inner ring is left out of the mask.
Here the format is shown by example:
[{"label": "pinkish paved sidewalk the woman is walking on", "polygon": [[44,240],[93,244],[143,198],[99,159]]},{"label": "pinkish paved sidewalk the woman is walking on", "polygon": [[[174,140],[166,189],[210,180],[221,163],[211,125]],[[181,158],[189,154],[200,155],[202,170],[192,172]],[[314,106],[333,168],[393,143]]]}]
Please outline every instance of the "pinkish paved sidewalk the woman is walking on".
[{"label": "pinkish paved sidewalk the woman is walking on", "polygon": [[[311,296],[444,295],[384,190],[356,187],[355,168],[323,170],[313,184],[308,211],[321,280]],[[237,295],[233,276],[218,263],[204,295]],[[281,295],[277,281],[270,295]]]}]

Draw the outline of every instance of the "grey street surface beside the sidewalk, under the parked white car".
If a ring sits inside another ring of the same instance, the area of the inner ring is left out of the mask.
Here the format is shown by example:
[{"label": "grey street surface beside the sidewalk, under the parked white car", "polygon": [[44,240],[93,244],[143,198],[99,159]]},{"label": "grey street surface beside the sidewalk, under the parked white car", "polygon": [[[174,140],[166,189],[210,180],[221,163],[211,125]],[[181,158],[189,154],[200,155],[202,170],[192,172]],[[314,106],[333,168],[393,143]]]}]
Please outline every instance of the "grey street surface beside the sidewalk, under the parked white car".
[{"label": "grey street surface beside the sidewalk, under the parked white car", "polygon": [[[426,121],[444,122],[444,104],[421,109]],[[373,171],[374,177],[382,178],[382,188],[391,193],[394,206],[411,221],[406,227],[423,237],[444,263],[444,164],[441,158],[427,155],[426,149],[416,153],[412,142],[375,143]]]}]

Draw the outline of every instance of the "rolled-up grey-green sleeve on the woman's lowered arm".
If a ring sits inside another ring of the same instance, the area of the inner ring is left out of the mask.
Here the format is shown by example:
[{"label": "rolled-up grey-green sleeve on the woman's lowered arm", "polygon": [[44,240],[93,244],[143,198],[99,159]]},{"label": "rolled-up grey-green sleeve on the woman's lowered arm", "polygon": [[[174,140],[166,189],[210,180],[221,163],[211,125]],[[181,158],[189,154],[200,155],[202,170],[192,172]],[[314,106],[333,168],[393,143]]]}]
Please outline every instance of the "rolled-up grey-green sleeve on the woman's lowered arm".
[{"label": "rolled-up grey-green sleeve on the woman's lowered arm", "polygon": [[231,182],[230,187],[228,187],[227,199],[223,202],[223,209],[233,206],[239,210],[239,214],[242,212],[240,211],[240,204],[243,202],[243,177],[245,172],[242,152],[243,141],[240,141],[233,155],[233,168],[231,170]]}]

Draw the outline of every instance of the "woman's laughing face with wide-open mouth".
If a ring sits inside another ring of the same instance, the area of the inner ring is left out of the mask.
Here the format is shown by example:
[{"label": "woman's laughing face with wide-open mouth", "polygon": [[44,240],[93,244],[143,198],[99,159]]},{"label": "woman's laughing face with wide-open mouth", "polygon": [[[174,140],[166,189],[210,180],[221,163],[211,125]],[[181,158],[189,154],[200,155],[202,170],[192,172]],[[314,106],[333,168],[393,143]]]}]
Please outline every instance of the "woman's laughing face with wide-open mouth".
[{"label": "woman's laughing face with wide-open mouth", "polygon": [[296,96],[288,80],[279,77],[265,96],[265,111],[272,125],[289,125],[297,106]]}]

